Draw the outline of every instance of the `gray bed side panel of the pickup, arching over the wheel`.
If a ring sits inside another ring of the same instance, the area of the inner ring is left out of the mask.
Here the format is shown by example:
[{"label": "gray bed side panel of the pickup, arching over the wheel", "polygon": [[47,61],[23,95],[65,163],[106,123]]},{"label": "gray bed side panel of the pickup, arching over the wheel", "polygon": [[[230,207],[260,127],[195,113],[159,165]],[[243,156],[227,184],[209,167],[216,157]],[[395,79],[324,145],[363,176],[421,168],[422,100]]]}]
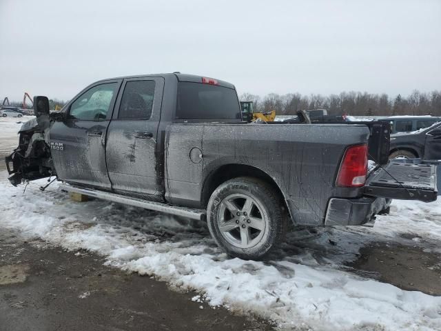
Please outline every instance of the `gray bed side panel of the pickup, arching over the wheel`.
[{"label": "gray bed side panel of the pickup, arching over the wheel", "polygon": [[[200,137],[202,167],[189,159]],[[366,126],[173,124],[167,139],[167,199],[197,205],[212,172],[222,165],[251,165],[274,179],[295,223],[320,225],[329,197],[342,192],[335,188],[342,154],[368,137]]]}]

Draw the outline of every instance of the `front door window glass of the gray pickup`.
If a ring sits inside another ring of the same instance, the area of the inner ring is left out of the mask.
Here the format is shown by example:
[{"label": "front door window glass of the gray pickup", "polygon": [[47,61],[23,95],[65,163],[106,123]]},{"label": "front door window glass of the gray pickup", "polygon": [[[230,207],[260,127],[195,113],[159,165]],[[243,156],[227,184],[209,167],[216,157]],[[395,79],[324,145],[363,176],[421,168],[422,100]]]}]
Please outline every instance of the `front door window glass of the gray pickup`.
[{"label": "front door window glass of the gray pickup", "polygon": [[70,106],[71,119],[106,119],[118,83],[105,83],[90,88]]}]

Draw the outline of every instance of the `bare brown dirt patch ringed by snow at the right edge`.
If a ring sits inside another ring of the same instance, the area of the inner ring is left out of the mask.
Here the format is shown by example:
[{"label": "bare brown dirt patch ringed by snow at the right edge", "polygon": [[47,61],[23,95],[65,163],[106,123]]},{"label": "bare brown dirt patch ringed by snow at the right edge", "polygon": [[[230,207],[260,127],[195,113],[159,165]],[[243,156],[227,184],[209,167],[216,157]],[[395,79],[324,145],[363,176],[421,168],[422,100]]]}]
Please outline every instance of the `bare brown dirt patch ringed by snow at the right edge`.
[{"label": "bare brown dirt patch ringed by snow at the right edge", "polygon": [[354,272],[391,283],[402,290],[441,295],[441,257],[424,248],[374,243],[360,250]]}]

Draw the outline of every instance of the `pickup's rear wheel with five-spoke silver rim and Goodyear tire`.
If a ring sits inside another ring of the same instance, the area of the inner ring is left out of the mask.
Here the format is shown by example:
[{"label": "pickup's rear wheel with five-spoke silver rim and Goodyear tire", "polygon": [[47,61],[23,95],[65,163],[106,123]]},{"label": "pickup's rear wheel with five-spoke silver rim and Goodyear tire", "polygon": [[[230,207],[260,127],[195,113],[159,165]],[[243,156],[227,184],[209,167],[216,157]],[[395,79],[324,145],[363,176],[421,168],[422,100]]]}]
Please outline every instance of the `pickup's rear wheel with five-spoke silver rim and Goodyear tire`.
[{"label": "pickup's rear wheel with five-spoke silver rim and Goodyear tire", "polygon": [[209,232],[230,256],[261,259],[283,241],[287,230],[283,205],[280,194],[265,181],[231,179],[209,199]]}]

